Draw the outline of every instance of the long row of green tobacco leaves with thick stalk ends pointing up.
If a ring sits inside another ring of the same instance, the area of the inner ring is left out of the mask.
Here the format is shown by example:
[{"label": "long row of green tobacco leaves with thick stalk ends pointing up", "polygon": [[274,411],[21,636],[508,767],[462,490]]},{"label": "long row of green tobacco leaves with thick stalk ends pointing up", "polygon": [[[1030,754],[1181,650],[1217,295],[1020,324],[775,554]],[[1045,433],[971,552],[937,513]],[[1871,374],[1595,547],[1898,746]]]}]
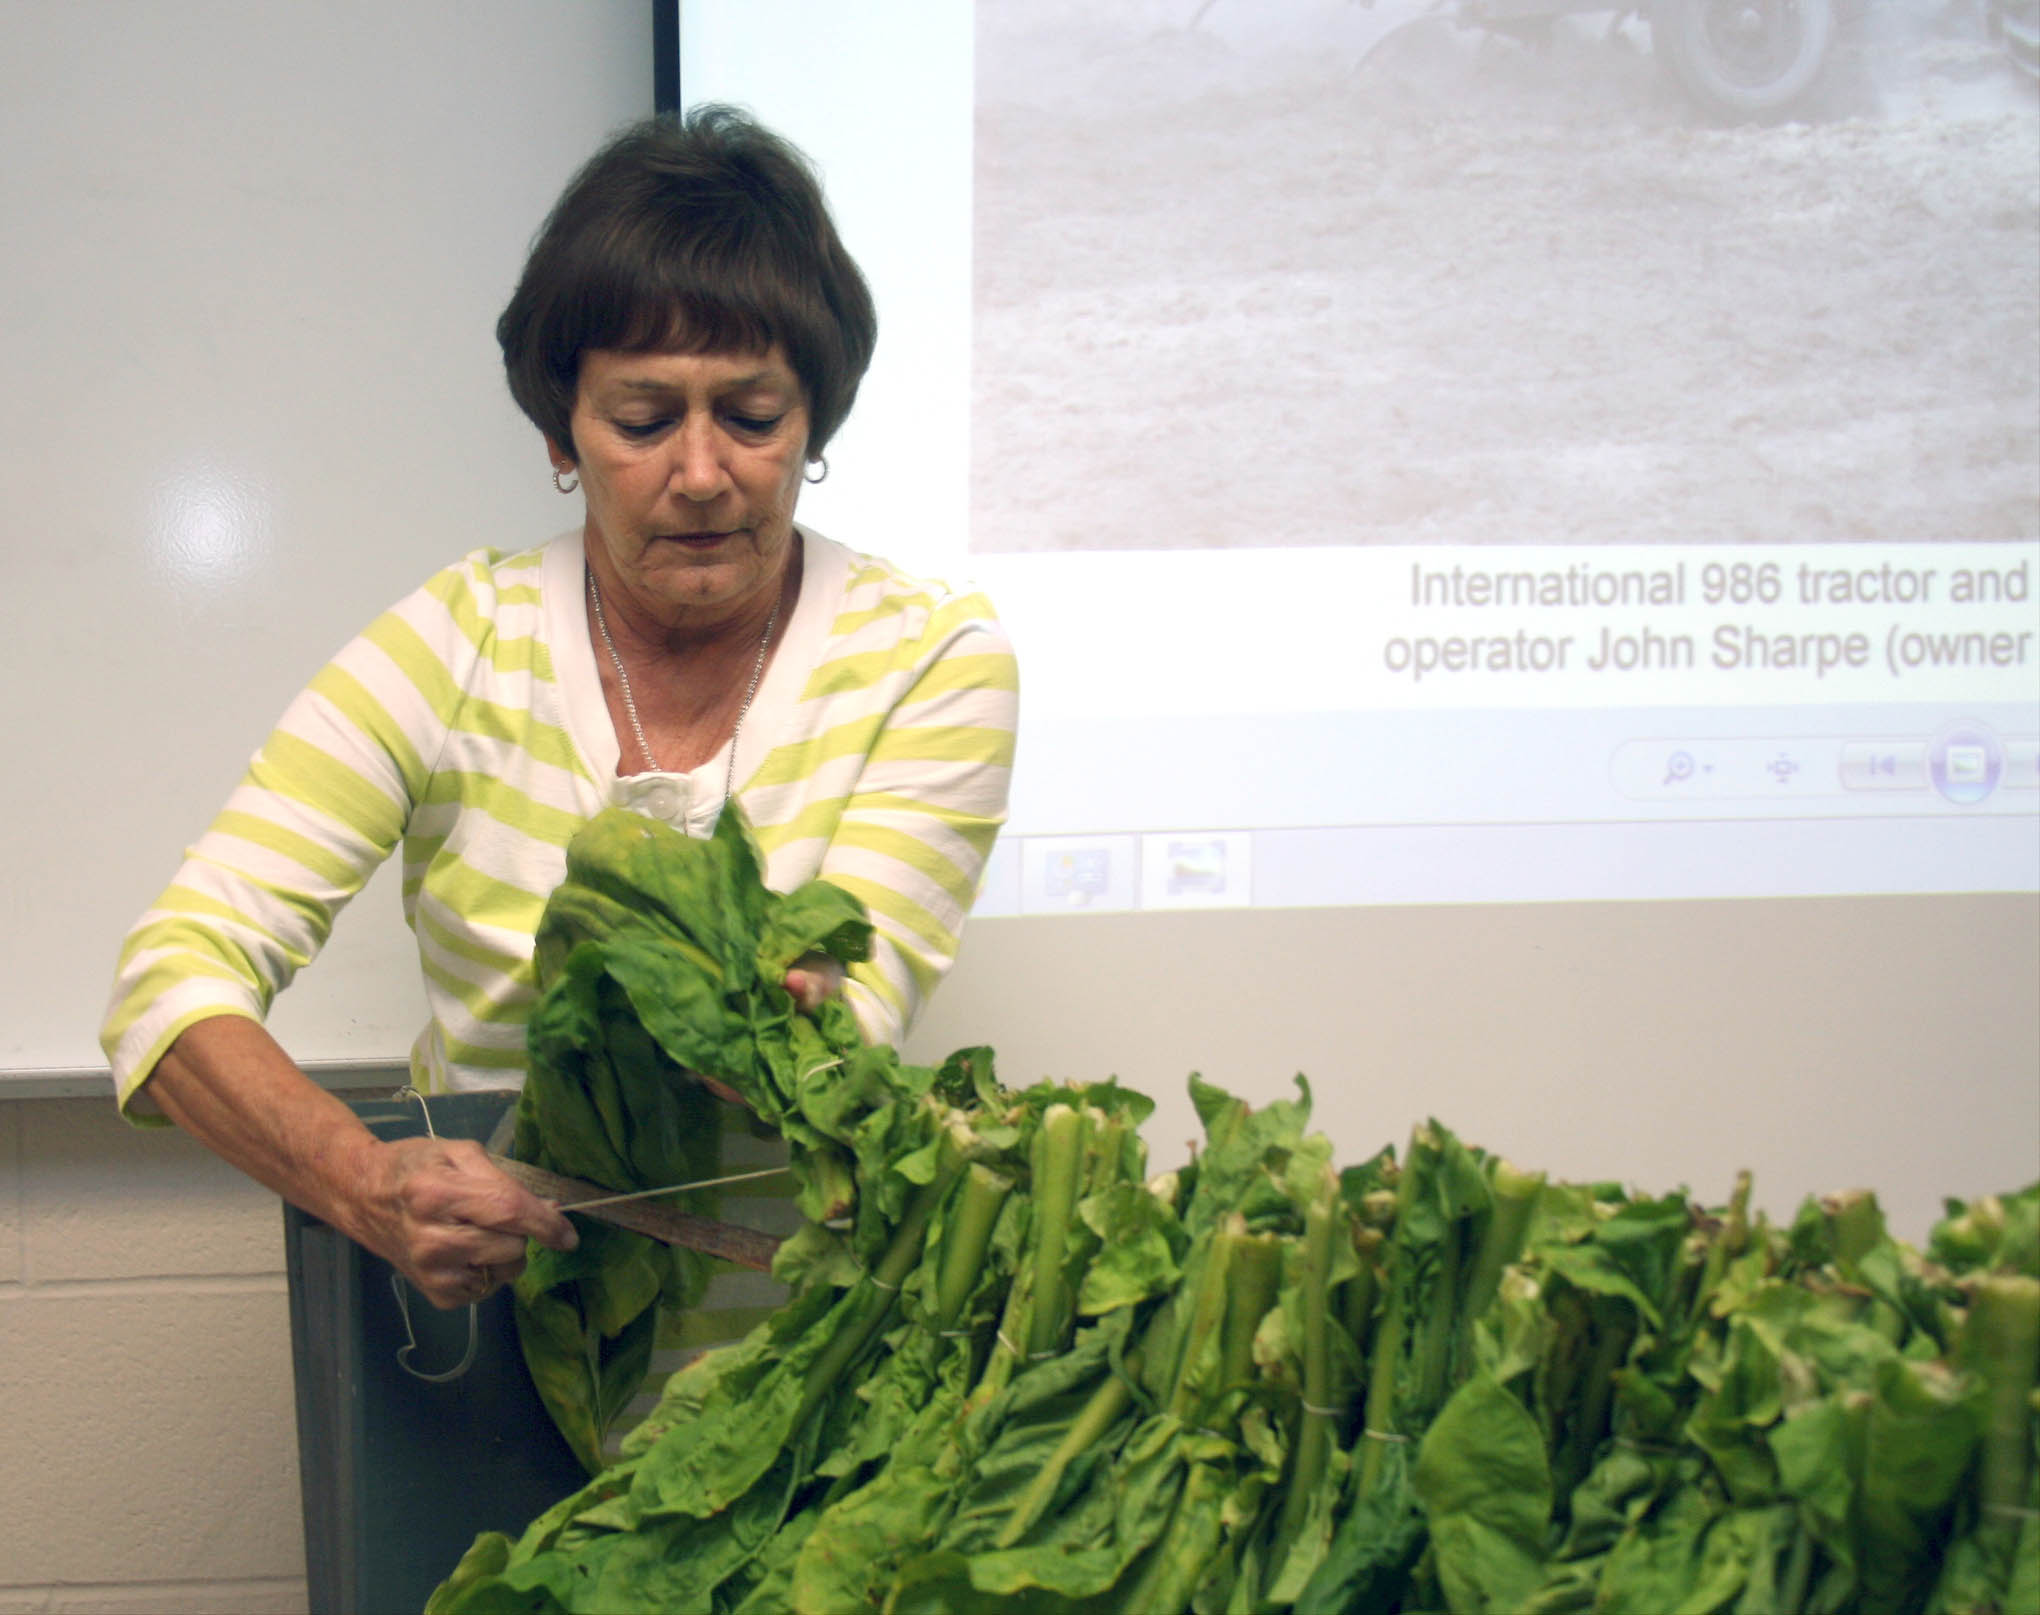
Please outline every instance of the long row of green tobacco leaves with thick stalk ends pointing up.
[{"label": "long row of green tobacco leaves with thick stalk ends pointing up", "polygon": [[[639,824],[659,867],[745,850]],[[1775,1228],[1746,1181],[1546,1183],[1436,1124],[1334,1170],[1302,1083],[1197,1079],[1149,1181],[1128,1089],[904,1064],[771,967],[655,991],[669,952],[622,997],[792,1142],[792,1299],[432,1615],[2040,1607],[2040,1185],[1920,1254],[1869,1195]]]}]

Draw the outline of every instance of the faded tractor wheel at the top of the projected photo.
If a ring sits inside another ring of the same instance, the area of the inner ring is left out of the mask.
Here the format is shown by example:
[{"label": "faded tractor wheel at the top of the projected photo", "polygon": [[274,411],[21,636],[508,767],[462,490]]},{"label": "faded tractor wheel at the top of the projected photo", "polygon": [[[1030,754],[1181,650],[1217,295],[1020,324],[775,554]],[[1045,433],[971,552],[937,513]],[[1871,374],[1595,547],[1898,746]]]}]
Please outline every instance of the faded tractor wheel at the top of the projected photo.
[{"label": "faded tractor wheel at the top of the projected photo", "polygon": [[1820,80],[1834,0],[1656,0],[1650,47],[1703,112],[1787,116]]}]

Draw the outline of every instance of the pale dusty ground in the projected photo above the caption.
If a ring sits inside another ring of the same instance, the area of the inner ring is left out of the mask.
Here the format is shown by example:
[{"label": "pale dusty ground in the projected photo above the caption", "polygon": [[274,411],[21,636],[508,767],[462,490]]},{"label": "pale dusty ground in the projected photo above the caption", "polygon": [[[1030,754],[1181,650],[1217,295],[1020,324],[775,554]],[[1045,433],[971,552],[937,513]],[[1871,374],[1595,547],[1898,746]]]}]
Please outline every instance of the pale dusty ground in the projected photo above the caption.
[{"label": "pale dusty ground in the projected photo above the caption", "polygon": [[2040,536],[2040,106],[1971,0],[1771,128],[1636,22],[1393,4],[979,0],[975,549]]}]

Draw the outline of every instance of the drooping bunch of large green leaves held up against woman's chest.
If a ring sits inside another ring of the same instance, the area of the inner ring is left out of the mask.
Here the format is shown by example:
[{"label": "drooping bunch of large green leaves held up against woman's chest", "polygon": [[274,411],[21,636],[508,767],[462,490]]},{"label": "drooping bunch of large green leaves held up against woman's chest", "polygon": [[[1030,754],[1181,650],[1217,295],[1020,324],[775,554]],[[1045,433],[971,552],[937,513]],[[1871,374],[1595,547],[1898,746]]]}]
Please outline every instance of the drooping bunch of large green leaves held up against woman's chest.
[{"label": "drooping bunch of large green leaves held up against woman's chest", "polygon": [[[781,983],[804,954],[863,958],[863,905],[822,881],[767,891],[741,818],[724,820],[714,838],[690,842],[616,810],[567,846],[567,877],[539,924],[518,1160],[618,1191],[702,1183],[718,1177],[726,1107],[687,1071],[741,1069],[763,1105],[777,1093],[773,1073],[792,1075],[796,1040],[804,1066],[816,1048],[857,1056],[849,1009],[796,1018]],[[761,1115],[812,1144],[783,1105]],[[802,1209],[838,1215],[851,1203],[849,1162],[826,1144],[798,1152]],[[716,1207],[710,1191],[665,1203],[698,1215]],[[516,1321],[539,1397],[596,1472],[651,1364],[659,1303],[696,1303],[712,1262],[604,1223],[583,1221],[579,1234],[569,1252],[530,1246]]]}]

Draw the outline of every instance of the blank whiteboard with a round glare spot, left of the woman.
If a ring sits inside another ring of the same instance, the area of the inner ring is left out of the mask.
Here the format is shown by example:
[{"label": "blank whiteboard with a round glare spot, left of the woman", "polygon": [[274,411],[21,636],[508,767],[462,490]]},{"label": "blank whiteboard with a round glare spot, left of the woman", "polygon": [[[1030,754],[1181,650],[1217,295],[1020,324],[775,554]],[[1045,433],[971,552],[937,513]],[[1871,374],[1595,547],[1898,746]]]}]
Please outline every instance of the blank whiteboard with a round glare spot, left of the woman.
[{"label": "blank whiteboard with a round glare spot, left of the woman", "polygon": [[[477,544],[577,520],[496,314],[653,110],[643,0],[0,6],[0,1073],[104,1073],[120,938],[298,687]],[[273,1026],[402,1058],[384,871]],[[104,1079],[102,1079],[104,1081]]]}]

